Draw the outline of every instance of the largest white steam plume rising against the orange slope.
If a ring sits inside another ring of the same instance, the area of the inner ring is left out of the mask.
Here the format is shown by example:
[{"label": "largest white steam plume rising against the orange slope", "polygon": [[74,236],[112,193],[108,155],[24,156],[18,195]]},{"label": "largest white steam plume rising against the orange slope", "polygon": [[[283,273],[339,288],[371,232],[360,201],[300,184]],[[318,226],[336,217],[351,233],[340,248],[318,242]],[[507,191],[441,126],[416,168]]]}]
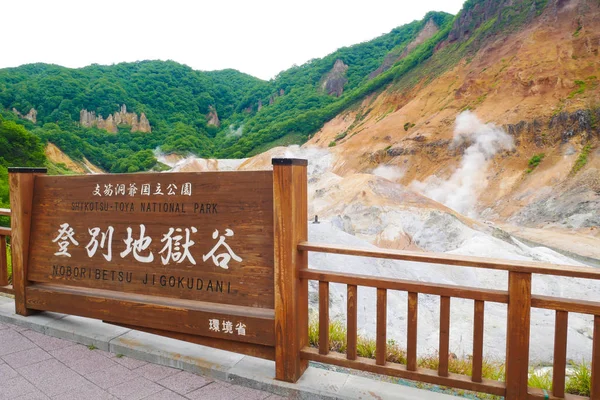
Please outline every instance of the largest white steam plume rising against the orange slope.
[{"label": "largest white steam plume rising against the orange slope", "polygon": [[460,166],[452,176],[443,181],[431,176],[425,181],[413,181],[411,187],[455,211],[475,216],[479,193],[488,182],[486,172],[489,161],[500,151],[510,150],[514,142],[500,127],[484,124],[475,114],[465,111],[456,117],[453,146],[470,143]]}]

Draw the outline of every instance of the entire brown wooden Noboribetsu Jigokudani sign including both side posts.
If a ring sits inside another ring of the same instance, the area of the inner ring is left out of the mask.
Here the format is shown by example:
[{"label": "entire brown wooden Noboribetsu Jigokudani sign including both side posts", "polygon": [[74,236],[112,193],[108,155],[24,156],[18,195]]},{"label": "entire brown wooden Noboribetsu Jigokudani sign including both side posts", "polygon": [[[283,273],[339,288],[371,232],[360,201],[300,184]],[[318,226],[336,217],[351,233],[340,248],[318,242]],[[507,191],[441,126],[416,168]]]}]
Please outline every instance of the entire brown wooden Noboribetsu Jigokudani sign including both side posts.
[{"label": "entire brown wooden Noboribetsu Jigokudani sign including both side posts", "polygon": [[273,171],[47,176],[11,168],[16,312],[55,311],[307,362],[306,160]]}]

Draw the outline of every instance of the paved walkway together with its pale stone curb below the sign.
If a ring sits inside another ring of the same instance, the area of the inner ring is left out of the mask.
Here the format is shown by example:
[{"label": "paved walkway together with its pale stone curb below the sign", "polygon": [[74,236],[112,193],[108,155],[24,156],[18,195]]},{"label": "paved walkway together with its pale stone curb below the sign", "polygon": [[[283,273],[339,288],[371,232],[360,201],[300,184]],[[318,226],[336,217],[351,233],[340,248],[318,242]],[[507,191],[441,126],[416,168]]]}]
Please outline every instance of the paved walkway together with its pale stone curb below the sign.
[{"label": "paved walkway together with its pale stone curb below the sign", "polygon": [[456,399],[311,365],[282,382],[273,361],[73,315],[23,317],[0,297],[0,400],[283,398]]}]

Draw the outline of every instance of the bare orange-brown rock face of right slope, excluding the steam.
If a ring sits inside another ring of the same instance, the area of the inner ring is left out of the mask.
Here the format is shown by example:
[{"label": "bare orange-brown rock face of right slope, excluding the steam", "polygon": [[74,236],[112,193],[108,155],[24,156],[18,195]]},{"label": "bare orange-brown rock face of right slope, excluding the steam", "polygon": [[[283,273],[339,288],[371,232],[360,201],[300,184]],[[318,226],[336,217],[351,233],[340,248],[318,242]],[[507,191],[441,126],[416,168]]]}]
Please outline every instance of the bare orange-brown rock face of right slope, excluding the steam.
[{"label": "bare orange-brown rock face of right slope, excluding the steam", "polygon": [[[333,170],[342,176],[383,163],[400,167],[399,182],[405,185],[431,175],[448,178],[462,156],[451,140],[455,118],[463,110],[499,126],[536,121],[545,129],[561,112],[598,109],[599,47],[600,3],[550,1],[542,15],[519,32],[491,38],[472,57],[409,89],[402,89],[410,87],[402,82],[392,84],[329,121],[306,146],[335,143]],[[595,190],[594,176],[600,171],[597,133],[565,141],[558,137],[560,132],[544,129],[539,137],[516,135],[515,151],[489,162],[485,190],[477,193],[478,212],[502,221],[540,200],[541,189],[573,190],[576,180]],[[591,147],[587,164],[574,174],[584,145]],[[540,153],[542,162],[528,171],[530,158]],[[584,175],[587,178],[579,179]]]}]

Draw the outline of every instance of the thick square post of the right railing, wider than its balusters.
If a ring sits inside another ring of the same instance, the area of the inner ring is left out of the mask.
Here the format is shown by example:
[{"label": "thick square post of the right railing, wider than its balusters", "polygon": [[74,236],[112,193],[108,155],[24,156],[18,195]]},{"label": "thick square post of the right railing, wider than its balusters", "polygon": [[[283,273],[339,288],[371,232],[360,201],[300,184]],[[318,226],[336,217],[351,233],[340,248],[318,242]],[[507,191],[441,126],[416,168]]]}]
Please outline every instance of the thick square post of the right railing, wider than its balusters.
[{"label": "thick square post of the right railing, wider than its balusters", "polygon": [[508,273],[508,321],[506,325],[506,400],[527,398],[531,274]]}]

